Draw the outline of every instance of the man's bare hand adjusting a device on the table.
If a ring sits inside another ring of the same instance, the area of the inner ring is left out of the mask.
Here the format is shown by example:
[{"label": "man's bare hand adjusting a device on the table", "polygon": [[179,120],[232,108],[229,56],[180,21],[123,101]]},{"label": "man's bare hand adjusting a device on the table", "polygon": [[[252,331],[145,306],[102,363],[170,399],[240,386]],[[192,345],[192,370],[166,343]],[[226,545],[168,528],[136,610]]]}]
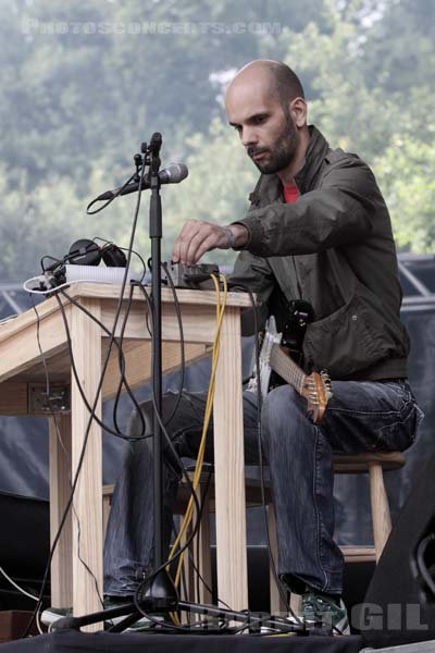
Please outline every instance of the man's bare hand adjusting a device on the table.
[{"label": "man's bare hand adjusting a device on the table", "polygon": [[188,220],[175,241],[172,260],[174,263],[192,266],[210,249],[243,247],[247,242],[248,230],[243,224],[229,227],[202,220]]}]

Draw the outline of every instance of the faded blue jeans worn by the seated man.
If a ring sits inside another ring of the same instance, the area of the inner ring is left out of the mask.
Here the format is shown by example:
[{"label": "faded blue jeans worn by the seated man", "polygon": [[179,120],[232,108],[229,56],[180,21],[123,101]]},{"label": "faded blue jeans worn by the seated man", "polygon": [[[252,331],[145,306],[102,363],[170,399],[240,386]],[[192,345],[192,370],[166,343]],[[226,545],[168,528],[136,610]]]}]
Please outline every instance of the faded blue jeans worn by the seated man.
[{"label": "faded blue jeans worn by the seated man", "polygon": [[[341,593],[343,554],[334,541],[333,452],[405,451],[414,441],[422,412],[405,381],[332,383],[333,397],[315,426],[306,401],[289,385],[272,390],[264,399],[261,423],[264,457],[276,514],[278,574],[293,591],[308,584]],[[163,397],[163,416],[172,412],[176,396]],[[204,394],[184,394],[169,434],[182,457],[195,458],[202,430]],[[147,432],[152,407],[142,405]],[[206,460],[213,460],[210,424]],[[140,434],[137,415],[132,435]],[[245,461],[258,455],[257,397],[244,393]],[[164,465],[164,523],[169,544],[173,507],[181,472],[169,452]],[[133,444],[125,457],[113,495],[104,545],[104,593],[135,592],[152,569],[153,504],[152,440]]]}]

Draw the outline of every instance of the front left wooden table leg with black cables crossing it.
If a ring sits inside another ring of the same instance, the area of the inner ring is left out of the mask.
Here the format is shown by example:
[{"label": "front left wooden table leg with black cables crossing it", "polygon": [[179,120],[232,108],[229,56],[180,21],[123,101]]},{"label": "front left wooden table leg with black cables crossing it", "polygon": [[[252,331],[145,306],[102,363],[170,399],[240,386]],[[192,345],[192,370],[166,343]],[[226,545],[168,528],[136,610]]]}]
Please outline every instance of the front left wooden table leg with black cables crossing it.
[{"label": "front left wooden table leg with black cables crossing it", "polygon": [[[82,299],[80,303],[97,319],[100,318],[98,301]],[[71,334],[78,379],[88,403],[92,406],[101,373],[101,330],[83,311],[73,307]],[[80,616],[102,609],[102,455],[101,429],[95,420],[90,429],[88,428],[89,411],[82,399],[74,375],[71,410],[73,478],[80,466],[72,516],[73,608],[74,615]],[[101,417],[101,398],[97,402],[96,415]],[[86,629],[101,628],[102,624],[96,624]]]}]

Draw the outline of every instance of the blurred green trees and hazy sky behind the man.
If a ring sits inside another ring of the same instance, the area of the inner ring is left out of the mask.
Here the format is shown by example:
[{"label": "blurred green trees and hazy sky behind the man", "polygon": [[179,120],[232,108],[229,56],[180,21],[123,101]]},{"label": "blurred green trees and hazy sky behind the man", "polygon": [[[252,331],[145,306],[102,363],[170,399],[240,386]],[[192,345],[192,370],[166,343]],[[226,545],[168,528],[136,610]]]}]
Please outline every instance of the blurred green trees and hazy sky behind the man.
[{"label": "blurred green trees and hazy sky behind the man", "polygon": [[222,100],[260,57],[294,67],[310,120],[373,167],[398,247],[433,251],[434,37],[433,0],[0,0],[0,280],[38,274],[76,237],[126,245],[133,197],[94,218],[85,207],[153,131],[163,163],[189,168],[163,190],[165,257],[186,219],[243,215],[257,174]]}]

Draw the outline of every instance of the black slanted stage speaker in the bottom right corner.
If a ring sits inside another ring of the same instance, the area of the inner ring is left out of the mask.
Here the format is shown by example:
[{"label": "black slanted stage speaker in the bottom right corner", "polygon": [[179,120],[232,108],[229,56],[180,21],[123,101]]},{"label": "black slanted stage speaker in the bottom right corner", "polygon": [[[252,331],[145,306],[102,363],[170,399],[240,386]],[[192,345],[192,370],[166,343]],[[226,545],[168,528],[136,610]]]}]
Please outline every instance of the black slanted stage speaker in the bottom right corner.
[{"label": "black slanted stage speaker in the bottom right corner", "polygon": [[[432,533],[435,533],[435,456],[411,489],[363,603],[352,609],[352,625],[361,631],[365,644],[380,648],[435,640],[435,595],[427,586],[434,579],[435,547],[428,537]],[[422,574],[428,577],[427,582]]]}]

